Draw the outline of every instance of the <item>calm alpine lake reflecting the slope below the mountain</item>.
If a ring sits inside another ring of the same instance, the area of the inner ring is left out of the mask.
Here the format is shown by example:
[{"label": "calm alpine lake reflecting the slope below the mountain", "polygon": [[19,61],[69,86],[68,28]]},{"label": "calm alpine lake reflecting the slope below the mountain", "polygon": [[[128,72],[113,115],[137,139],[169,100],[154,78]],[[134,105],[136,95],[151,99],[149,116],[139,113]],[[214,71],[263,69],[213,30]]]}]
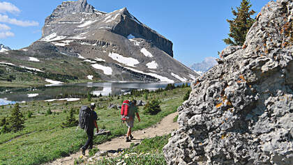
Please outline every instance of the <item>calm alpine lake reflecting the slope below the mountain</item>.
[{"label": "calm alpine lake reflecting the slope below the mountain", "polygon": [[[37,88],[0,88],[0,105],[15,104],[16,102],[31,102],[45,100],[75,101],[81,97],[92,95],[122,95],[131,90],[154,91],[165,88],[169,83],[144,83],[144,82],[103,82],[83,84],[54,84]],[[185,83],[176,83],[181,86]]]}]

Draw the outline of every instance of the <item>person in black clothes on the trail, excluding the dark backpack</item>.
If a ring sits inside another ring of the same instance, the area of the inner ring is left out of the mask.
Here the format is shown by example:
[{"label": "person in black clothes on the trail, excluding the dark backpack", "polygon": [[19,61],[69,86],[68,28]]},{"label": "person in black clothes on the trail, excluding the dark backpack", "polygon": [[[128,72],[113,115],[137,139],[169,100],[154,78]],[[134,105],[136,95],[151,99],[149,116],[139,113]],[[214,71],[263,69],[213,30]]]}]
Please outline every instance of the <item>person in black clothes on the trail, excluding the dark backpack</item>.
[{"label": "person in black clothes on the trail, excluding the dark backpack", "polygon": [[98,125],[96,120],[98,119],[97,113],[93,111],[96,108],[95,103],[91,103],[91,113],[89,116],[89,125],[87,127],[87,143],[84,144],[82,147],[82,155],[85,155],[85,150],[87,148],[92,149],[93,148],[93,129],[96,127],[97,133],[98,133]]}]

